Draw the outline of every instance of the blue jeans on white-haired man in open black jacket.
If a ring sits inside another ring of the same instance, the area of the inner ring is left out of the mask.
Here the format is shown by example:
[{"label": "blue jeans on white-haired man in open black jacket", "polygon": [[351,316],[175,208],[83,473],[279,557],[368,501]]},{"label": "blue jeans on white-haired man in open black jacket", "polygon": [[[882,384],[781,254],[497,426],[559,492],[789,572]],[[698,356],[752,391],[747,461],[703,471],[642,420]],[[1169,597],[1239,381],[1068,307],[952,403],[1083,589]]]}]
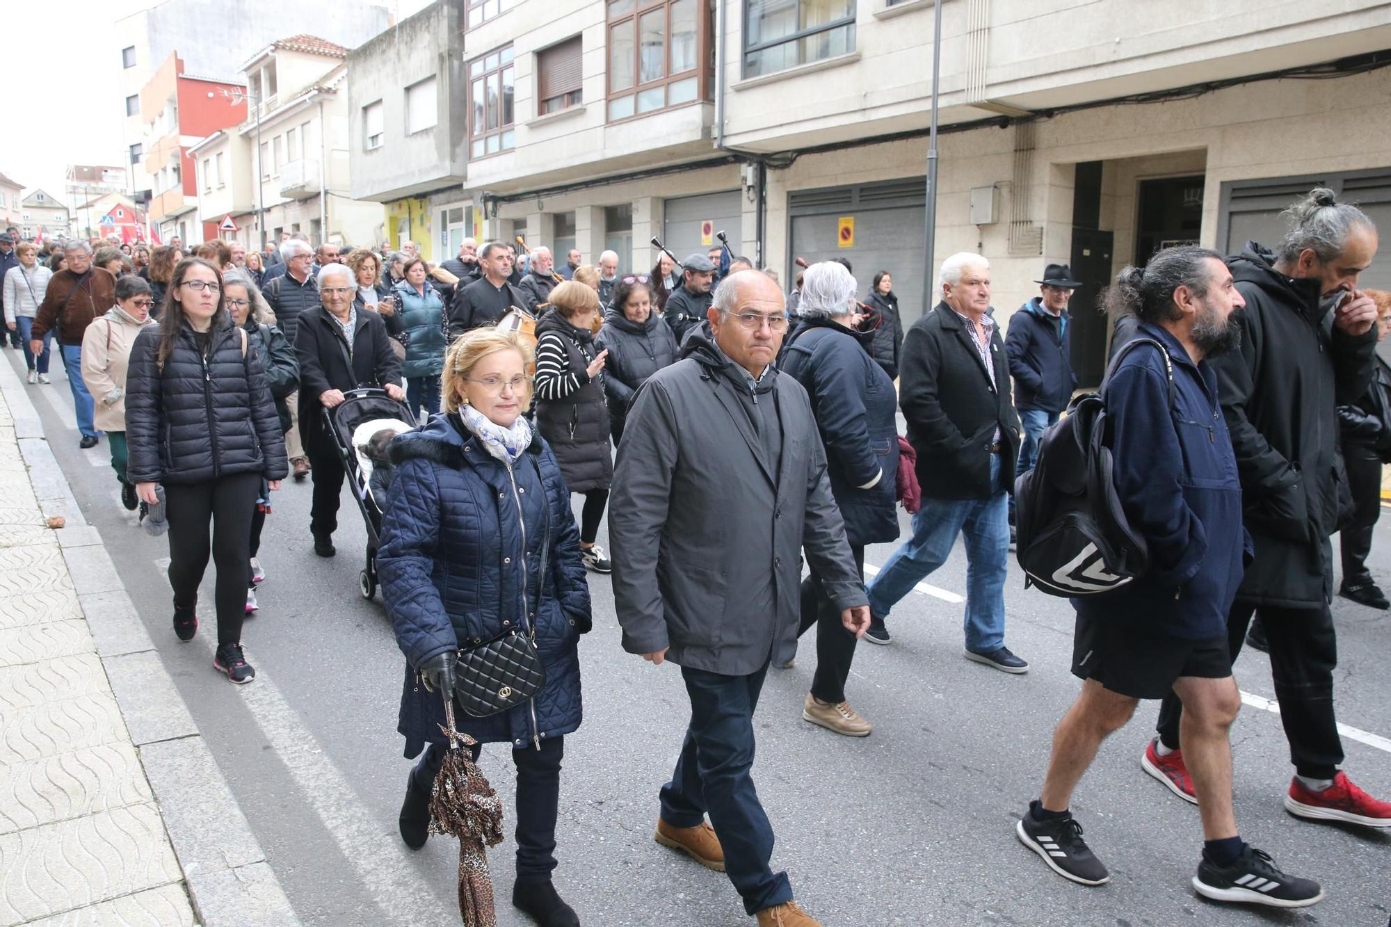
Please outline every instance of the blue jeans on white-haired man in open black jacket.
[{"label": "blue jeans on white-haired man in open black jacket", "polygon": [[1004,646],[1004,575],[1010,555],[1010,523],[1000,455],[990,455],[989,498],[922,498],[912,516],[912,537],[893,551],[869,583],[869,610],[883,621],[894,603],[947,562],[957,534],[965,534],[965,649],[995,653]]}]

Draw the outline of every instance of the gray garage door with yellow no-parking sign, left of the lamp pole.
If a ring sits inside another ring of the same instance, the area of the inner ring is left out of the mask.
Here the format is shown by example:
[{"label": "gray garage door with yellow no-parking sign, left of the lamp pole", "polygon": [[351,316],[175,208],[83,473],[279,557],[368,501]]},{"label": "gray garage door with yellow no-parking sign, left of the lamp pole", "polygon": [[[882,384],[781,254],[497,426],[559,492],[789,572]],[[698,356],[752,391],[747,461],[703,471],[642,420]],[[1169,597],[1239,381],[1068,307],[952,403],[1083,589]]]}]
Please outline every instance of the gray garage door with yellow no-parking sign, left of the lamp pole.
[{"label": "gray garage door with yellow no-parking sign, left of the lamp pole", "polygon": [[[922,273],[925,202],[924,178],[790,193],[787,280],[797,277],[797,258],[811,264],[847,258],[864,299],[874,276],[887,270],[907,327],[922,315],[922,288],[928,283]],[[843,217],[854,219],[853,248],[840,248]]]}]

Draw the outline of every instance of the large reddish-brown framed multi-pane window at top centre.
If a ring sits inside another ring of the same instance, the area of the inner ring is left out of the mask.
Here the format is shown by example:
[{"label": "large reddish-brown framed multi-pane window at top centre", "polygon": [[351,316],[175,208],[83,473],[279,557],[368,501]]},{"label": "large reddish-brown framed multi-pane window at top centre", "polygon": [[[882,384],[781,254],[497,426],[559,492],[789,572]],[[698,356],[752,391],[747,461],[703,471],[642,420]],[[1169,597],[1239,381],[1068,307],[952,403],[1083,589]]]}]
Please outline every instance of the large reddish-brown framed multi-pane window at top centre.
[{"label": "large reddish-brown framed multi-pane window at top centre", "polygon": [[711,29],[701,10],[697,0],[609,0],[609,121],[705,96],[698,64]]}]

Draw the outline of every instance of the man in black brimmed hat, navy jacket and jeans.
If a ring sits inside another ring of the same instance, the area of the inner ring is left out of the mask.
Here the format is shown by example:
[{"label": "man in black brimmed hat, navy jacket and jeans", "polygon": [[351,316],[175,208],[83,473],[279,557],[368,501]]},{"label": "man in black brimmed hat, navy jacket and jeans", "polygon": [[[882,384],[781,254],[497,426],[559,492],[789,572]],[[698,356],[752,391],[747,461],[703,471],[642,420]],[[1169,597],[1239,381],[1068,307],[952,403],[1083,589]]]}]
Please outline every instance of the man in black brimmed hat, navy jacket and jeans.
[{"label": "man in black brimmed hat, navy jacket and jeans", "polygon": [[[1004,352],[1010,355],[1010,376],[1014,377],[1014,408],[1024,426],[1024,443],[1014,465],[1015,477],[1034,469],[1043,430],[1057,422],[1059,412],[1067,408],[1072,390],[1077,388],[1067,301],[1082,284],[1072,280],[1072,269],[1067,264],[1049,264],[1043,269],[1043,280],[1034,283],[1039,284],[1039,295],[1010,316],[1004,338]],[[1010,540],[1014,540],[1013,493]]]}]

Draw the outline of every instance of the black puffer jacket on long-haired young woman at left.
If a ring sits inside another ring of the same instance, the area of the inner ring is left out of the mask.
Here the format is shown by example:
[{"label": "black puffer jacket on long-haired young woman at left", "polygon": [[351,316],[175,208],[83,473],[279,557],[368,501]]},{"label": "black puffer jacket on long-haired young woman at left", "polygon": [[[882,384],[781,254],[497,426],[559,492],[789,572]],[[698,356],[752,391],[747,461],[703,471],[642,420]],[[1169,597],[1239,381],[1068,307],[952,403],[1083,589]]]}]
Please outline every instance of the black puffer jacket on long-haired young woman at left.
[{"label": "black puffer jacket on long-haired young woman at left", "polygon": [[127,476],[132,483],[202,483],[234,473],[284,479],[285,438],[262,369],[231,319],[204,358],[185,327],[159,365],[160,330],[135,338],[125,376]]}]

